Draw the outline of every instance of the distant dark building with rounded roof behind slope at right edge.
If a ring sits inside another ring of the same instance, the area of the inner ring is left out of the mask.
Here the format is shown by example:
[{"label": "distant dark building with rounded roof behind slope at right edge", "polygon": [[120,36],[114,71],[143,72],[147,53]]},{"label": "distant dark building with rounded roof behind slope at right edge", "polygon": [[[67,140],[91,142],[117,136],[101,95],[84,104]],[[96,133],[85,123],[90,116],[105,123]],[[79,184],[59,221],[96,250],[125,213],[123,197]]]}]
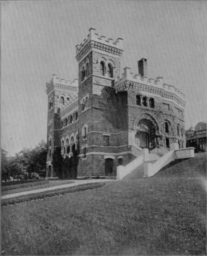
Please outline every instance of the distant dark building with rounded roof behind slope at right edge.
[{"label": "distant dark building with rounded roof behind slope at right edge", "polygon": [[186,147],[194,147],[196,152],[206,152],[207,123],[199,122],[185,131]]}]

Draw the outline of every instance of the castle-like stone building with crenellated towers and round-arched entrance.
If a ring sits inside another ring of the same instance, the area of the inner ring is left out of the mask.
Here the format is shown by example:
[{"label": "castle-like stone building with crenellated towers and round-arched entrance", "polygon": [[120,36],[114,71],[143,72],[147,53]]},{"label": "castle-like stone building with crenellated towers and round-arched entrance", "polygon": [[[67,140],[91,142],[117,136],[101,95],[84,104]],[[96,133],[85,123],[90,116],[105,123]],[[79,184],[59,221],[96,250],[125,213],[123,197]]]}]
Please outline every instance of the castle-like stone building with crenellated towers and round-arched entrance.
[{"label": "castle-like stone building with crenellated towers and round-arched entrance", "polygon": [[72,156],[79,147],[78,177],[115,176],[143,148],[185,147],[184,94],[147,77],[147,60],[138,73],[121,71],[123,40],[99,35],[91,28],[76,45],[78,80],[52,76],[48,95],[48,176],[53,176],[52,153]]}]

